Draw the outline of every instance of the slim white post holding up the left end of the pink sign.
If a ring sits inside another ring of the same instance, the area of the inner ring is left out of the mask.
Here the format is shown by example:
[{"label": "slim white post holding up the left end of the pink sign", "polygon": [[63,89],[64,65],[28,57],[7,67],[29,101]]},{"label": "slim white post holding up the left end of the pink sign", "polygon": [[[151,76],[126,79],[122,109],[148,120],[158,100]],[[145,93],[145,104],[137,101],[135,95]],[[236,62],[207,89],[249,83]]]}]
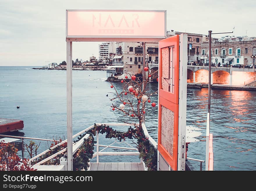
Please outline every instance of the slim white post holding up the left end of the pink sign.
[{"label": "slim white post holding up the left end of the pink sign", "polygon": [[67,170],[73,170],[72,139],[72,42],[67,41]]}]

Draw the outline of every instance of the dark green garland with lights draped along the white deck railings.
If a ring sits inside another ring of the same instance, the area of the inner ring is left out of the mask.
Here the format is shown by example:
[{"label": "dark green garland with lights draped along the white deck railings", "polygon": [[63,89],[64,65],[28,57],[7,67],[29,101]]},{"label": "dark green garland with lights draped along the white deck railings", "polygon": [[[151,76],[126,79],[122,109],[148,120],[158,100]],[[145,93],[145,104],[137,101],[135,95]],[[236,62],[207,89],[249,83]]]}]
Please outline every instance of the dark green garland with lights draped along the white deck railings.
[{"label": "dark green garland with lights draped along the white deck railings", "polygon": [[[147,170],[149,171],[157,170],[157,149],[152,144],[150,144],[148,138],[145,136],[142,129],[138,128],[137,126],[136,128],[132,128],[130,126],[127,132],[122,132],[122,131],[116,131],[113,128],[106,125],[97,126],[96,124],[94,124],[94,128],[85,132],[83,135],[79,135],[79,137],[77,138],[77,141],[79,141],[87,133],[90,134],[89,138],[84,140],[81,147],[79,147],[79,149],[73,155],[74,170],[88,169],[89,161],[93,157],[93,149],[94,149],[94,143],[95,143],[93,136],[96,135],[96,131],[99,131],[99,133],[101,134],[106,133],[106,136],[105,136],[106,138],[117,138],[119,141],[125,140],[125,138],[137,139],[138,151],[140,153],[139,157],[143,159],[143,162],[145,163]],[[39,160],[36,161],[36,163],[51,156],[54,153],[57,153],[58,151],[64,149],[65,147],[67,147],[67,143],[64,143],[52,149],[51,151],[45,153],[44,156],[41,156]],[[62,156],[63,154],[59,154],[58,156],[55,157],[54,160],[47,161],[44,164],[59,165],[60,164],[59,159]],[[67,157],[67,152],[64,153],[64,156]]]}]

